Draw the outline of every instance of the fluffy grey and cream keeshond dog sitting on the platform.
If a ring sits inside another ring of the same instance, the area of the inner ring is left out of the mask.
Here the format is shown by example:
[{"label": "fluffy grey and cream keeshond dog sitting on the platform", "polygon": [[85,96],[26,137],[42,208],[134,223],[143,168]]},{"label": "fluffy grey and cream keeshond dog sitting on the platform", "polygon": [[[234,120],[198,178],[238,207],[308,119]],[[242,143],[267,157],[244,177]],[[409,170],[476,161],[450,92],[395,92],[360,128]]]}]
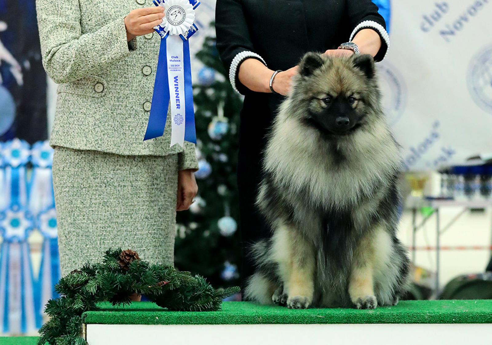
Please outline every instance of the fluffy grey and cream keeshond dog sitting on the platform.
[{"label": "fluffy grey and cream keeshond dog sitting on the platform", "polygon": [[268,137],[245,296],[288,308],[396,305],[409,284],[398,240],[399,145],[369,55],[308,53]]}]

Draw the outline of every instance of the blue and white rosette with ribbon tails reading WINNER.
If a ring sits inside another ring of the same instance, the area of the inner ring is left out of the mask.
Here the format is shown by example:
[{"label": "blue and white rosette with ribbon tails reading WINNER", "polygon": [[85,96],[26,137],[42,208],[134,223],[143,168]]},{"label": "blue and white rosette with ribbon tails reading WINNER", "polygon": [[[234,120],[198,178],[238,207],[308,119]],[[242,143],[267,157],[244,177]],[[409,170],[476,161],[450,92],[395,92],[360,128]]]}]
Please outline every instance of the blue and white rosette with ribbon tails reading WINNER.
[{"label": "blue and white rosette with ribbon tails reading WINNER", "polygon": [[196,144],[195,114],[188,39],[198,30],[194,24],[198,0],[154,0],[165,17],[154,29],[160,35],[154,94],[144,141],[161,137],[171,106],[171,146]]}]

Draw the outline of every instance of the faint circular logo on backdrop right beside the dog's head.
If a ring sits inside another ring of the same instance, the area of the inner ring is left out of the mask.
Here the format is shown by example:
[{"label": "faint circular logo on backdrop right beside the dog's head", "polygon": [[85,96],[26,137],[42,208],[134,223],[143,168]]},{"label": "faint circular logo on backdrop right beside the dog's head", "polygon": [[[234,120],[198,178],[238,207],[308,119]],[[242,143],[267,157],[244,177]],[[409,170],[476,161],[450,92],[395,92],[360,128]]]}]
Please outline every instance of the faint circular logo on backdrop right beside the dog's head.
[{"label": "faint circular logo on backdrop right beside the dog's head", "polygon": [[378,63],[377,70],[384,114],[388,124],[393,126],[400,120],[405,110],[406,86],[398,69],[388,61]]}]

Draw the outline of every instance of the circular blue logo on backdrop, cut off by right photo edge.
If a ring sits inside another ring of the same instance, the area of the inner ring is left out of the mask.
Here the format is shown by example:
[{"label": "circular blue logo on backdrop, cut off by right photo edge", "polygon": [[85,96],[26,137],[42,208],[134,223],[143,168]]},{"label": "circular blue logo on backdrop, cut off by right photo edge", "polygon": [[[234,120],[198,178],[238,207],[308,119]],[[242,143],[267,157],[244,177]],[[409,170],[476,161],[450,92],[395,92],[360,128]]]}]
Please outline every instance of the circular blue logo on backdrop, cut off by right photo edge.
[{"label": "circular blue logo on backdrop, cut off by right photo edge", "polygon": [[475,103],[492,114],[492,45],[471,59],[467,82]]}]

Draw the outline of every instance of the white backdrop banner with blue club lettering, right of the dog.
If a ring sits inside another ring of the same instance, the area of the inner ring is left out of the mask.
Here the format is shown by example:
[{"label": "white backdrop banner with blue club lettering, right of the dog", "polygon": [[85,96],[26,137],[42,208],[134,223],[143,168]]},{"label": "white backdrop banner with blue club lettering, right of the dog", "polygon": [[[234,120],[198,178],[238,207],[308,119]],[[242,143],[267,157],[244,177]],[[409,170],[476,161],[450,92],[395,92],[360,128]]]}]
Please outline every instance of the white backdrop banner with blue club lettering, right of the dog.
[{"label": "white backdrop banner with blue club lettering, right of the dog", "polygon": [[374,2],[390,7],[391,48],[378,69],[404,168],[491,153],[492,0]]}]

